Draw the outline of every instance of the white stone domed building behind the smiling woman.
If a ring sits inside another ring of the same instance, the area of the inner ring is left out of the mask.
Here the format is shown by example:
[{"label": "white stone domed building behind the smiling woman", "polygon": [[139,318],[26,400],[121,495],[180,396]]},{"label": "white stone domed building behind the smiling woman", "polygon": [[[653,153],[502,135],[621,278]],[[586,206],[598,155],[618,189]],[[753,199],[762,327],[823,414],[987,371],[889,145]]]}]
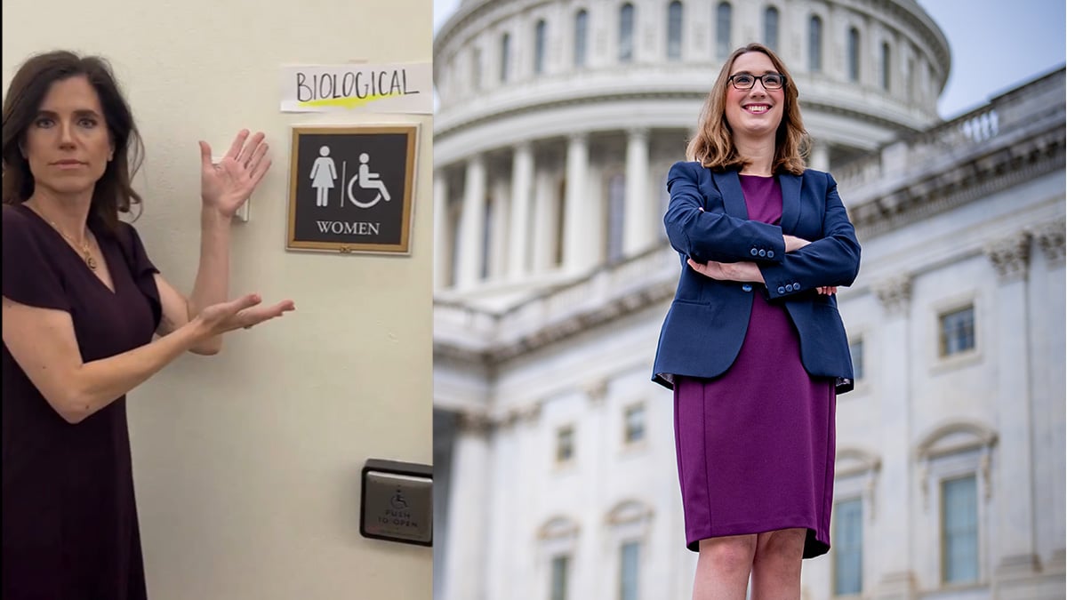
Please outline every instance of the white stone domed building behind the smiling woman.
[{"label": "white stone domed building behind the smiling woman", "polygon": [[806,598],[1064,597],[1063,72],[941,123],[909,0],[467,0],[434,46],[436,598],[689,597],[664,177],[750,41],[863,246]]}]

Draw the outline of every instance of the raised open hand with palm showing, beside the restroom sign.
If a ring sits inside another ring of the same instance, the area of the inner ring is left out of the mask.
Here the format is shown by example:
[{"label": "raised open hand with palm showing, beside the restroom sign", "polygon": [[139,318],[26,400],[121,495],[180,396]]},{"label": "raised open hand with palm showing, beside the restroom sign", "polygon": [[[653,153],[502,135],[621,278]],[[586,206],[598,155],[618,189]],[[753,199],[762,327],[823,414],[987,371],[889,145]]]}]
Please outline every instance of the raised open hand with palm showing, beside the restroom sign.
[{"label": "raised open hand with palm showing, beside the restroom sign", "polygon": [[249,139],[242,129],[218,164],[211,162],[211,146],[201,142],[201,200],[205,208],[213,208],[225,217],[233,217],[252,195],[259,180],[270,169],[267,142],[262,132]]}]

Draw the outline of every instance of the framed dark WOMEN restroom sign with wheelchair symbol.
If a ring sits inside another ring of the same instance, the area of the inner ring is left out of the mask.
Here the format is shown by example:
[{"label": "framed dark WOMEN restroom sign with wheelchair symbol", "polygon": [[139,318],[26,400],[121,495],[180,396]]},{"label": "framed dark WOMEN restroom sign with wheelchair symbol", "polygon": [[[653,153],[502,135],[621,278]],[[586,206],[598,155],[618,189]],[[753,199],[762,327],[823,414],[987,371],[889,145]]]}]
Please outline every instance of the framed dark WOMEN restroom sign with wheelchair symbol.
[{"label": "framed dark WOMEN restroom sign with wheelchair symbol", "polygon": [[287,249],[411,254],[418,125],[293,127]]}]

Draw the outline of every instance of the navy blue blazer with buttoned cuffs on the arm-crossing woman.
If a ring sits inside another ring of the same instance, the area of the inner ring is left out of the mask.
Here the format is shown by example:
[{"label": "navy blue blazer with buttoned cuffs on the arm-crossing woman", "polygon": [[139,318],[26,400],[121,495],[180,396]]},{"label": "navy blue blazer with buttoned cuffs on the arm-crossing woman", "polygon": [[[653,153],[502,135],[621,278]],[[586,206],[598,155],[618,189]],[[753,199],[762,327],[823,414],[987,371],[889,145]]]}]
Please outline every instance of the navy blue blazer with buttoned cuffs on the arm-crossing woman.
[{"label": "navy blue blazer with buttoned cuffs on the arm-crossing woman", "polygon": [[[800,335],[800,361],[812,376],[853,389],[848,337],[834,296],[819,286],[847,286],[860,267],[860,244],[829,173],[778,175],[780,225],[748,220],[736,171],[714,173],[699,162],[678,162],[667,176],[667,237],[682,260],[678,290],[659,333],[652,380],[673,388],[673,376],[712,378],[726,373],[745,342],[752,295],[785,306]],[[703,212],[700,211],[703,208]],[[783,234],[811,243],[785,253]],[[765,285],[717,281],[686,265],[750,260]],[[773,366],[771,366],[773,368]]]}]

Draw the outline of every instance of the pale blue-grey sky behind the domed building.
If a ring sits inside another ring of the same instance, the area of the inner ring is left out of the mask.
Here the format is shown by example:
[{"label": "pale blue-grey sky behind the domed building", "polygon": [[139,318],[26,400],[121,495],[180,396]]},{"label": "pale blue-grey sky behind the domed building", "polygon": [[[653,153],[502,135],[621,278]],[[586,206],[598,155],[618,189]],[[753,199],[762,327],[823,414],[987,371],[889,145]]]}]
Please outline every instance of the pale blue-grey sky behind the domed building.
[{"label": "pale blue-grey sky behind the domed building", "polygon": [[[459,0],[433,0],[434,31],[459,4]],[[967,112],[1064,64],[1064,0],[919,0],[919,4],[952,48],[952,70],[938,102],[942,117]]]}]

